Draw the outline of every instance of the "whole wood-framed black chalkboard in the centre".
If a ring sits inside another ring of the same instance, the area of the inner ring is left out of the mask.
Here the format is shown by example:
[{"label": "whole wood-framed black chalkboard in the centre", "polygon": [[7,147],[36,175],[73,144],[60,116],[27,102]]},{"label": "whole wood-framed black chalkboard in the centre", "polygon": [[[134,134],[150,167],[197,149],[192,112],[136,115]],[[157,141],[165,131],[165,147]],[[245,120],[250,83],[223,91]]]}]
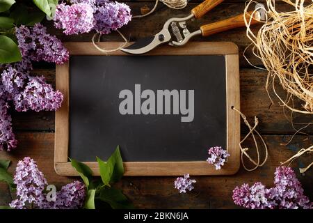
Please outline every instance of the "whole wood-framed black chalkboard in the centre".
[{"label": "whole wood-framed black chalkboard in the centre", "polygon": [[[117,43],[102,43],[113,47]],[[67,157],[106,160],[120,145],[126,175],[234,174],[239,167],[238,52],[232,43],[163,46],[151,54],[103,55],[90,43],[67,43],[70,61],[56,69],[65,95],[56,112],[55,166]],[[222,170],[207,149],[222,146]]]}]

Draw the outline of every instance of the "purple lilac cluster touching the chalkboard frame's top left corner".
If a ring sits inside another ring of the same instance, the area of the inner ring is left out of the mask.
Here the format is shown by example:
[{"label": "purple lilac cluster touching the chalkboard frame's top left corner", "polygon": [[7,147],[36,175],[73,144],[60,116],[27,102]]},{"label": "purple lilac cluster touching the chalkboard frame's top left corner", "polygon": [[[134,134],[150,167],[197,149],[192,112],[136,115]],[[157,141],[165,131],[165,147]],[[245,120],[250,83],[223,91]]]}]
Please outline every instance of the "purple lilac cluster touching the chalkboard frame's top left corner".
[{"label": "purple lilac cluster touching the chalkboard frame's top left corner", "polygon": [[35,24],[31,28],[22,25],[17,27],[15,32],[23,58],[57,64],[68,60],[69,53],[61,40],[47,33],[42,24]]}]

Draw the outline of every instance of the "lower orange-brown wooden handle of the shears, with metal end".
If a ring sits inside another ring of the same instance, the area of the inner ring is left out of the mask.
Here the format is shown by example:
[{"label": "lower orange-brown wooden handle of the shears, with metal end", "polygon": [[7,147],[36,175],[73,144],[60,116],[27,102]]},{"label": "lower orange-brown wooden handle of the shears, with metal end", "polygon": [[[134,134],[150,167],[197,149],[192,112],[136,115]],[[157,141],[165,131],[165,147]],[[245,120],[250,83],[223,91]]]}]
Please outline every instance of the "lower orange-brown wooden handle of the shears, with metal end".
[{"label": "lower orange-brown wooden handle of the shears, with metal end", "polygon": [[[250,20],[250,15],[252,15],[253,11],[248,12],[246,15],[246,19]],[[257,24],[260,20],[259,13],[256,12],[253,14],[253,19],[251,20],[251,24]],[[210,36],[215,33],[220,33],[222,31],[226,31],[229,29],[239,28],[246,26],[245,21],[243,19],[243,14],[236,15],[235,17],[231,17],[227,20],[222,20],[220,22],[214,22],[212,24],[203,25],[200,27],[202,31],[202,36]]]}]

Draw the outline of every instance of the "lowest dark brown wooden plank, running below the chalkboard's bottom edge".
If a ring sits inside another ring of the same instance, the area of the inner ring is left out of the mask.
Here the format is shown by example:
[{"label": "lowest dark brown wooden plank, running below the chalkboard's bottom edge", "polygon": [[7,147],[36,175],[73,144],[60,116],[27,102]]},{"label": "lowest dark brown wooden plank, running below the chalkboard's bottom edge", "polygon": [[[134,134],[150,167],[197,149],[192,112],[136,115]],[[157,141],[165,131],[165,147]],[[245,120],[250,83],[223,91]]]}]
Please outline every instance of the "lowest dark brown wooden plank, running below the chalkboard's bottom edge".
[{"label": "lowest dark brown wooden plank, running below the chalkboard's bottom edge", "polygon": [[[273,185],[273,173],[282,160],[287,160],[299,148],[307,147],[312,143],[313,137],[296,136],[291,144],[282,146],[291,136],[265,135],[268,145],[268,162],[256,171],[247,172],[240,169],[234,176],[195,176],[197,183],[195,190],[188,194],[179,194],[173,187],[175,177],[124,177],[116,185],[134,202],[137,208],[236,208],[232,202],[232,190],[243,183],[262,181],[268,187]],[[54,171],[54,133],[17,132],[18,148],[13,153],[0,153],[1,159],[13,161],[9,171],[14,172],[17,160],[24,156],[33,157],[38,167],[47,177],[49,184],[61,188],[79,178],[58,176]],[[253,146],[248,140],[245,146]],[[297,168],[310,162],[310,157],[301,157],[291,167],[294,167],[298,179],[303,184],[305,194],[313,199],[312,179],[313,172],[301,175]],[[0,183],[0,206],[10,201],[8,188]]]}]

